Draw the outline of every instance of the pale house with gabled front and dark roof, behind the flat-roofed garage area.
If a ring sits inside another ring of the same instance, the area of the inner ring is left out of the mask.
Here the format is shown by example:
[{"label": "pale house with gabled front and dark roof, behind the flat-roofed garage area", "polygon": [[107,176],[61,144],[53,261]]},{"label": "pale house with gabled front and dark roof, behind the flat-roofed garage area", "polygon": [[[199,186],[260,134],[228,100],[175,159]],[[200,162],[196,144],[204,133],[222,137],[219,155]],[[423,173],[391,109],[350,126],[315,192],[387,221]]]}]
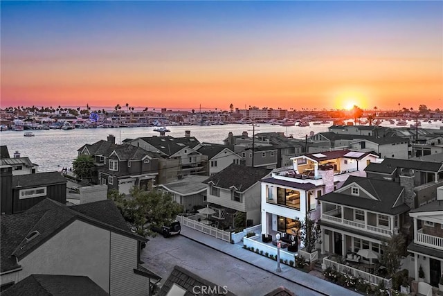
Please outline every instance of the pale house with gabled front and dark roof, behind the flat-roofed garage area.
[{"label": "pale house with gabled front and dark roof, behind the flat-roofed garage area", "polygon": [[240,164],[240,159],[242,159],[241,156],[233,151],[233,148],[222,144],[199,143],[195,146],[195,150],[208,157],[205,171],[207,171],[210,176],[219,173],[219,171],[223,171],[224,168],[232,163]]}]

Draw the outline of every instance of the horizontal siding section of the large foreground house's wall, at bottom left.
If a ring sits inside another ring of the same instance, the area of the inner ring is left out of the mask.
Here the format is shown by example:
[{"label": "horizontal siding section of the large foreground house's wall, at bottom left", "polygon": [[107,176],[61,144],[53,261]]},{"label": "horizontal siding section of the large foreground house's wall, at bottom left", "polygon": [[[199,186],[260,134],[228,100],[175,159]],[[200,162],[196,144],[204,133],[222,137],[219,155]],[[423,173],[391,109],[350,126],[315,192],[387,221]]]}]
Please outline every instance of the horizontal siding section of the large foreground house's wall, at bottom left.
[{"label": "horizontal siding section of the large foreground house's wall, at bottom left", "polygon": [[136,275],[137,241],[111,233],[111,293],[110,295],[147,295],[149,279]]}]

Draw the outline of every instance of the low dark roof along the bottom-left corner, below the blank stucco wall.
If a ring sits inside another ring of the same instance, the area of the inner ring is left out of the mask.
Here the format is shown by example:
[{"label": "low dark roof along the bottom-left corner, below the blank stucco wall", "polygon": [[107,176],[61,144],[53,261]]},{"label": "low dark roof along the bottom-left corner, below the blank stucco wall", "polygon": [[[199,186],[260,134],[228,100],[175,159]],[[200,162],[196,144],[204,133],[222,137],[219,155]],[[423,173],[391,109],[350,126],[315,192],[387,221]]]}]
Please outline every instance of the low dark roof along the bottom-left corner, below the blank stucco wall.
[{"label": "low dark roof along the bottom-left corner, below the blank stucco wall", "polygon": [[64,295],[105,296],[109,295],[89,277],[75,275],[30,275],[1,293],[12,295]]}]

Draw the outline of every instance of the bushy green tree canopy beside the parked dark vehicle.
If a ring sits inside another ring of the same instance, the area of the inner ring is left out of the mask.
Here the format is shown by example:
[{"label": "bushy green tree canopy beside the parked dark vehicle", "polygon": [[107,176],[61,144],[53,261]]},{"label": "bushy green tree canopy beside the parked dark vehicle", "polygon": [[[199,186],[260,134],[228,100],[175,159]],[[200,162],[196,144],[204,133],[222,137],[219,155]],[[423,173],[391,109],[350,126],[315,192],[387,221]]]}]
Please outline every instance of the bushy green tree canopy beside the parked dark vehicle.
[{"label": "bushy green tree canopy beside the parked dark vehicle", "polygon": [[145,229],[149,224],[155,227],[169,225],[183,211],[181,204],[172,199],[170,193],[163,191],[144,191],[134,186],[129,196],[111,190],[108,198],[114,200],[121,214],[134,225],[137,234],[154,236],[154,232]]}]

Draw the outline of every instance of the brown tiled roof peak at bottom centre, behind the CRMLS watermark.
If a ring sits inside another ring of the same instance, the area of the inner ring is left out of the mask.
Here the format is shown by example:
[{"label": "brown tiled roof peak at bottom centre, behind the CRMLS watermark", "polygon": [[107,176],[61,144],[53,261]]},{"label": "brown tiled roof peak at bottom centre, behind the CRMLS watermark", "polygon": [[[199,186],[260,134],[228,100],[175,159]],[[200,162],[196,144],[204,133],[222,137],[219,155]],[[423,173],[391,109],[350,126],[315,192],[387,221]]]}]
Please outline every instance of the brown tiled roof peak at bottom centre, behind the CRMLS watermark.
[{"label": "brown tiled roof peak at bottom centre, behind the CRMLS watermark", "polygon": [[223,286],[219,286],[217,284],[214,284],[206,279],[203,279],[199,277],[198,275],[195,275],[194,273],[190,272],[189,270],[186,270],[185,268],[182,268],[180,266],[175,265],[174,269],[172,270],[171,274],[169,275],[168,279],[166,279],[165,284],[161,287],[158,296],[166,296],[168,295],[168,292],[172,288],[174,284],[177,284],[178,286],[181,286],[181,288],[185,289],[187,292],[185,295],[195,295],[192,288],[195,286],[206,286],[210,287],[208,288],[208,293],[205,295],[211,296],[211,295],[230,295],[234,296],[230,291],[226,291],[226,293],[218,293],[225,292],[223,289]]}]

